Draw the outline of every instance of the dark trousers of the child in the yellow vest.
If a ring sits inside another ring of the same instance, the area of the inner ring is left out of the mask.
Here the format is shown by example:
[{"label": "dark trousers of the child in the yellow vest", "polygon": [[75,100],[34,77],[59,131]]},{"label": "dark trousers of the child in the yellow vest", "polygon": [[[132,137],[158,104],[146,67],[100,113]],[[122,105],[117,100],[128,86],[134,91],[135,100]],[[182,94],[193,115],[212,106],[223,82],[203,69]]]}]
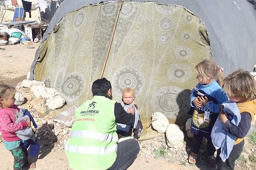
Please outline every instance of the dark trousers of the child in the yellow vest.
[{"label": "dark trousers of the child in the yellow vest", "polygon": [[232,151],[228,159],[223,162],[220,158],[220,149],[217,150],[217,157],[216,157],[216,170],[234,170],[235,169],[235,160],[239,158],[240,154],[242,153],[244,148],[244,140],[239,144],[233,146]]}]

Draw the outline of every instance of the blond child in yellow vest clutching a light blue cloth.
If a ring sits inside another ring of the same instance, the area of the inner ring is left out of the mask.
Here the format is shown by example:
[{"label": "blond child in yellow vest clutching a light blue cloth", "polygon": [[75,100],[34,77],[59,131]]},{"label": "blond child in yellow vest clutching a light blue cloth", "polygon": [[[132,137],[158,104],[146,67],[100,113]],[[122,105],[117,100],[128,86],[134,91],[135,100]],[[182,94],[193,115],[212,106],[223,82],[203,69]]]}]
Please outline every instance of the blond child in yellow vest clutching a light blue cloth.
[{"label": "blond child in yellow vest clutching a light blue cloth", "polygon": [[230,101],[223,103],[211,137],[218,149],[216,169],[234,170],[256,114],[256,82],[248,71],[239,69],[225,77],[222,88]]}]

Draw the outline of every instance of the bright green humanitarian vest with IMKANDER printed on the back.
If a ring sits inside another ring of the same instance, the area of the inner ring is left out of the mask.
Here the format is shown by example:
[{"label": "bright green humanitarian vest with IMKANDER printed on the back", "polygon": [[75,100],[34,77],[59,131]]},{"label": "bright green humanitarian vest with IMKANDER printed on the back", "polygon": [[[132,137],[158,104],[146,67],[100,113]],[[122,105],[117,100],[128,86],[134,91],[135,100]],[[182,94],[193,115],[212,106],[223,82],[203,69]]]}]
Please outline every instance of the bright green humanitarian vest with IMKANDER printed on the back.
[{"label": "bright green humanitarian vest with IMKANDER printed on the back", "polygon": [[106,170],[116,161],[115,103],[95,95],[76,109],[70,139],[65,144],[70,168]]}]

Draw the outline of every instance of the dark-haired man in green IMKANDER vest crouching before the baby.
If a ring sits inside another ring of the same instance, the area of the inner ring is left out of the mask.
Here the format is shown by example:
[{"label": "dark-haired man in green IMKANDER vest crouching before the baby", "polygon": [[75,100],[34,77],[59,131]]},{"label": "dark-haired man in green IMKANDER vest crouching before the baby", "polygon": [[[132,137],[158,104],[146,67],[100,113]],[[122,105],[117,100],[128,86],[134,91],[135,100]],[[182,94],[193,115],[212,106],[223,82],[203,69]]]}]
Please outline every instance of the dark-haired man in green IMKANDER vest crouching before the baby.
[{"label": "dark-haired man in green IMKANDER vest crouching before the baby", "polygon": [[69,167],[75,170],[126,170],[140,146],[135,139],[118,143],[116,123],[132,125],[135,108],[127,112],[112,99],[111,83],[97,79],[92,100],[76,109],[70,139],[65,144]]}]

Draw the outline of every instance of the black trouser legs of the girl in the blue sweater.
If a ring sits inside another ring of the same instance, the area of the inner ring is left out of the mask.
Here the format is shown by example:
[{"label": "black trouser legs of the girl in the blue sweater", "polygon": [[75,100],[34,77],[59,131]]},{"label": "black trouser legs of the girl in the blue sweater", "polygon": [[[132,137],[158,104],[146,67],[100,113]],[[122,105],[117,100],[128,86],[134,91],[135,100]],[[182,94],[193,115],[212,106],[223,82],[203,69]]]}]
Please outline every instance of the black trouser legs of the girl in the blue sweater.
[{"label": "black trouser legs of the girl in the blue sweater", "polygon": [[[194,135],[194,146],[192,152],[195,154],[198,154],[199,149],[201,148],[201,144],[203,141],[203,136],[200,135]],[[216,151],[215,147],[213,146],[213,143],[211,142],[211,137],[207,138],[207,154],[208,155],[214,155],[214,152]]]}]

